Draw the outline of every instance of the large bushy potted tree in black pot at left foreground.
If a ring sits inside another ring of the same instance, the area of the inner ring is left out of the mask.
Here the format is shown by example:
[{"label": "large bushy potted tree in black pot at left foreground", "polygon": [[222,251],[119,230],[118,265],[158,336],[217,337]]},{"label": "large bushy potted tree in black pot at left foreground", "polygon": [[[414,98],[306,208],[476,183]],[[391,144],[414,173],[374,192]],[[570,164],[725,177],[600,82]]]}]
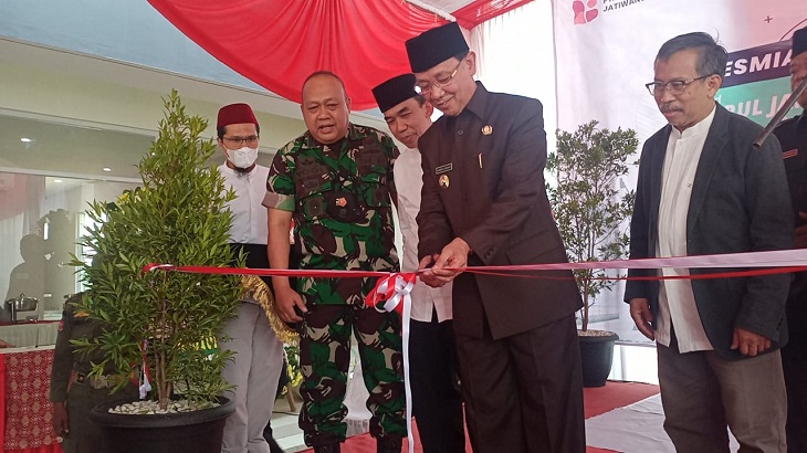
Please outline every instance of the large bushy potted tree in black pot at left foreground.
[{"label": "large bushy potted tree in black pot at left foreground", "polygon": [[[216,151],[212,139],[200,138],[207,120],[186,114],[176,91],[164,103],[158,137],[138,166],[143,186],[117,203],[91,206],[86,214],[96,225],[81,245],[94,259],[92,264],[74,260],[86,287],[77,309],[105,325],[103,335],[76,346],[103,350],[106,358],[94,364],[93,373],[114,364],[117,388],[136,380],[146,390],[148,381],[148,399],[157,407],[151,411],[158,412],[122,415],[96,408],[91,419],[102,425],[109,452],[218,452],[224,419],[233,411],[220,398],[228,388],[221,377],[228,355],[214,345],[221,324],[237,313],[240,277],[144,272],[149,263],[232,264],[226,202],[234,194],[207,164]],[[201,422],[201,431],[186,422]],[[170,433],[153,426],[163,424]],[[140,443],[151,438],[156,445]],[[188,443],[195,440],[201,445]]]}]

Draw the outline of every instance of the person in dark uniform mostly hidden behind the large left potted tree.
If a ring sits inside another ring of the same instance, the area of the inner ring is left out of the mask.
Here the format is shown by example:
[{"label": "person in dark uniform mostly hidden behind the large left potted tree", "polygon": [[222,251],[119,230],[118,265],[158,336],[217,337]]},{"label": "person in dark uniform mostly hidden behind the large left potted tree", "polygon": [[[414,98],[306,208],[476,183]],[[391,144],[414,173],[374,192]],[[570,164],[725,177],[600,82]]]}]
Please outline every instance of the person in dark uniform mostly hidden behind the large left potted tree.
[{"label": "person in dark uniform mostly hidden behind the large left potted tree", "polygon": [[102,361],[103,354],[74,351],[70,340],[93,338],[102,333],[103,327],[90,319],[86,313],[75,310],[74,304],[81,299],[82,293],[78,293],[64,303],[59,324],[51,370],[53,431],[64,439],[62,447],[65,453],[97,453],[101,451],[101,431],[88,420],[90,410],[109,399],[136,398],[137,387],[130,382],[123,391],[109,394],[115,387],[112,377],[88,376],[92,362]]}]

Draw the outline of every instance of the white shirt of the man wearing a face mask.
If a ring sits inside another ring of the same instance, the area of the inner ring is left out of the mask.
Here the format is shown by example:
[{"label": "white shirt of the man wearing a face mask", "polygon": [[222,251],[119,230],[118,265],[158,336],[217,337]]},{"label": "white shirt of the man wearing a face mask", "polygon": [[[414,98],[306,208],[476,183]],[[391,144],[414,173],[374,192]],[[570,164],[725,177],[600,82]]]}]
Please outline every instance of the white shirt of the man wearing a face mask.
[{"label": "white shirt of the man wearing a face mask", "polygon": [[269,211],[262,202],[266,194],[269,168],[255,165],[249,173],[242,173],[222,164],[219,171],[224,177],[224,190],[232,189],[237,194],[227,203],[232,212],[230,243],[266,244]]}]

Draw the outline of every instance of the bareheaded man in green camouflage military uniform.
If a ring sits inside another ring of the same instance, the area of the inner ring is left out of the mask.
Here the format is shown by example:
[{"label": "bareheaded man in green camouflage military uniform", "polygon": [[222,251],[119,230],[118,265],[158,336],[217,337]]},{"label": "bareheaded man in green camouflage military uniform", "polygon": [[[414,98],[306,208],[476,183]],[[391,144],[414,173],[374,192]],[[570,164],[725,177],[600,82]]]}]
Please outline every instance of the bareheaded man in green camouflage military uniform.
[{"label": "bareheaded man in green camouflage military uniform", "polygon": [[[308,76],[302,97],[308,130],[277,151],[266,183],[271,266],[289,267],[294,219],[300,268],[397,271],[390,202],[397,148],[386,134],[349,123],[350,99],[335,74]],[[338,452],[345,440],[353,330],[370,393],[370,433],[379,452],[400,452],[406,435],[400,317],[365,305],[375,278],[298,278],[296,291],[286,277],[272,282],[281,318],[302,322],[305,443],[317,453]]]}]

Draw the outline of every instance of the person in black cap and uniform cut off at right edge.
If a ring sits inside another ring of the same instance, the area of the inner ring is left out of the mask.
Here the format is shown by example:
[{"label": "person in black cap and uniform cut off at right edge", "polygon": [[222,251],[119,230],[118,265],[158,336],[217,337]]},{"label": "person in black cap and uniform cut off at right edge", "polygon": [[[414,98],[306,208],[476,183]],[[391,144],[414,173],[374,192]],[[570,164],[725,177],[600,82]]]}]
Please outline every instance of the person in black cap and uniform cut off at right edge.
[{"label": "person in black cap and uniform cut off at right edge", "polygon": [[[793,34],[790,89],[807,77],[807,28]],[[807,91],[798,98],[807,108]],[[804,112],[774,129],[790,188],[796,222],[796,246],[807,249],[807,114]],[[807,272],[794,274],[787,299],[789,340],[782,348],[782,368],[787,387],[787,449],[807,452]]]}]

